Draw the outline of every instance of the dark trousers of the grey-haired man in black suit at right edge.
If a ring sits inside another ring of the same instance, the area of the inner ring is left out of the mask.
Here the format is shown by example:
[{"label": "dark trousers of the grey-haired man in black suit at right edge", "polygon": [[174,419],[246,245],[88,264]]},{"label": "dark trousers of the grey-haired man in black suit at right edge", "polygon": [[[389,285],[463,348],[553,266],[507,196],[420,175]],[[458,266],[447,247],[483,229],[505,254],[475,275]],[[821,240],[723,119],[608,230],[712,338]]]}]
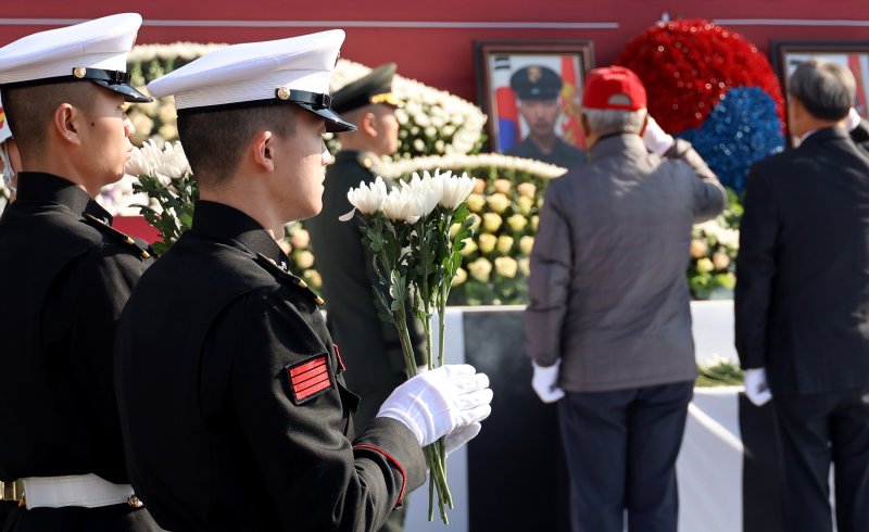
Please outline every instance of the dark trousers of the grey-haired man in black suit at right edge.
[{"label": "dark trousers of the grey-haired man in black suit at right edge", "polygon": [[830,465],[839,532],[869,531],[869,390],[776,395],[789,532],[829,532]]}]

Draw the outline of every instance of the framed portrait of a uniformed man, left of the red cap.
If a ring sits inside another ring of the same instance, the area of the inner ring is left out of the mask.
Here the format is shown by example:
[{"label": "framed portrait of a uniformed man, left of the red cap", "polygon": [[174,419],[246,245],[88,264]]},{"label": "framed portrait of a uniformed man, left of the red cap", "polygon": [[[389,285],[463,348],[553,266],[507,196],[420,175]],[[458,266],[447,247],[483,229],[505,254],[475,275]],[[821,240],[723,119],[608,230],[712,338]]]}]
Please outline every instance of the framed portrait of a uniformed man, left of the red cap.
[{"label": "framed portrait of a uniformed man, left of the red cap", "polygon": [[475,41],[475,50],[491,150],[567,168],[581,163],[579,104],[591,41]]}]

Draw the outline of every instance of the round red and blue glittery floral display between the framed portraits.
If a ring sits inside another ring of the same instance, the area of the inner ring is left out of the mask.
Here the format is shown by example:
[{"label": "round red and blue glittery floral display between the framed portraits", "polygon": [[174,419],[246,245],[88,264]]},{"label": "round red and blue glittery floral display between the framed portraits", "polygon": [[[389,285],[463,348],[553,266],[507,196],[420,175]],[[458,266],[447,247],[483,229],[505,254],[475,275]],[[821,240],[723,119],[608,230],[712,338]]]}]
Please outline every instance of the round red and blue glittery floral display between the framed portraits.
[{"label": "round red and blue glittery floral display between the framed portraits", "polygon": [[664,130],[695,140],[736,192],[754,161],[784,148],[778,78],[739,34],[706,21],[659,23],[626,45],[616,63],[643,80],[648,112]]}]

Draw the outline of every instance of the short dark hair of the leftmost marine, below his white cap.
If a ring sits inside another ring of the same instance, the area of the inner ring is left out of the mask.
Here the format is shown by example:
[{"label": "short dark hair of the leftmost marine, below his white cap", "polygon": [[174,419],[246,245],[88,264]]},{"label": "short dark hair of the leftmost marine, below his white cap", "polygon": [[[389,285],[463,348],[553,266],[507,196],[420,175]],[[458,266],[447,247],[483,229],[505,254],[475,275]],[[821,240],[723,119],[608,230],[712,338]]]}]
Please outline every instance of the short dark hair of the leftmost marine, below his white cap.
[{"label": "short dark hair of the leftmost marine, below his white cap", "polygon": [[47,141],[46,132],[59,105],[70,105],[86,112],[93,110],[101,89],[91,83],[65,81],[59,84],[12,87],[0,90],[3,112],[9,121],[12,137],[18,149],[32,155],[41,153]]}]

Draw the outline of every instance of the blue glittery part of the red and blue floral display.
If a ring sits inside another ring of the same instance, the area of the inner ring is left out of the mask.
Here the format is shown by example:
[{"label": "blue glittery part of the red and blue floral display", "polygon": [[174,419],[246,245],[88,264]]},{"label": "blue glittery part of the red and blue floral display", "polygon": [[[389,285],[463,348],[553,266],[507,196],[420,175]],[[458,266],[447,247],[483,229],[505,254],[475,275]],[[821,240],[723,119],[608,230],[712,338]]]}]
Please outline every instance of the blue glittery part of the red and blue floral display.
[{"label": "blue glittery part of the red and blue floral display", "polygon": [[700,129],[677,134],[694,145],[726,187],[745,189],[748,167],[784,149],[772,98],[758,87],[730,89]]}]

